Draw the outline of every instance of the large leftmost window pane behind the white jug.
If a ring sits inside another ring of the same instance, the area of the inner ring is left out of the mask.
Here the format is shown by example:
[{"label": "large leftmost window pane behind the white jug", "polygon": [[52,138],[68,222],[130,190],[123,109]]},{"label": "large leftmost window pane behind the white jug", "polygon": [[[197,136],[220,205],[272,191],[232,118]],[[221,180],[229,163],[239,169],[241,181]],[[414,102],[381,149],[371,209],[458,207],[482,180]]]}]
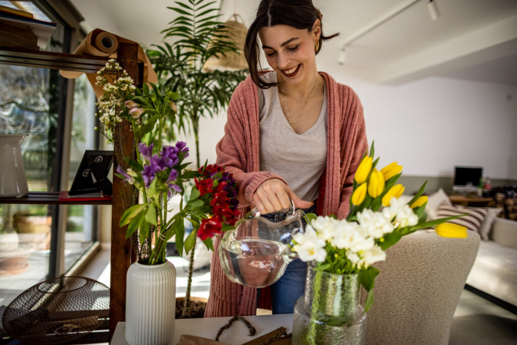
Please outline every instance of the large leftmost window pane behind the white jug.
[{"label": "large leftmost window pane behind the white jug", "polygon": [[[58,22],[30,2],[16,3],[26,6],[37,19]],[[14,2],[0,4],[14,6]],[[58,23],[44,50],[62,52],[63,37],[64,27]],[[57,70],[0,64],[0,134],[28,134],[22,157],[30,191],[57,190],[55,167],[60,167],[60,162],[55,157],[62,84]],[[49,278],[55,209],[53,205],[0,204],[0,305]]]}]

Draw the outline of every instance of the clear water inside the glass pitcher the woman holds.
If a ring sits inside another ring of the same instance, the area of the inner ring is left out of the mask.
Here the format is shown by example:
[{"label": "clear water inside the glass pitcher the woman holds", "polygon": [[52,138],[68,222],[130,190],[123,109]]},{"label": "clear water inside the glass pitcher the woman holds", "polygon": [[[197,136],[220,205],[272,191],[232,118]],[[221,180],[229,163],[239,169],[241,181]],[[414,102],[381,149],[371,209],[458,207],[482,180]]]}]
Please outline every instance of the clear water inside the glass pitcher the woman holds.
[{"label": "clear water inside the glass pitcher the woman holds", "polygon": [[277,281],[292,260],[285,244],[262,238],[246,238],[222,244],[219,258],[232,281],[263,288]]}]

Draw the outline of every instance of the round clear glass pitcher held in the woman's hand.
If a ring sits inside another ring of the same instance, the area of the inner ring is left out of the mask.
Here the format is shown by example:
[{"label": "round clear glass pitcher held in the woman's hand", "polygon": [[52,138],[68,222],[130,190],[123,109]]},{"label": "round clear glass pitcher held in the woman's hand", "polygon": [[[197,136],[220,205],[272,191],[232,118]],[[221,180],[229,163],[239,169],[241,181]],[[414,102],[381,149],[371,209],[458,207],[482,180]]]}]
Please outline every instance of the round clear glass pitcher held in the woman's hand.
[{"label": "round clear glass pitcher held in the woman's hand", "polygon": [[263,288],[284,274],[287,264],[298,256],[291,250],[293,235],[303,231],[305,213],[291,208],[284,220],[272,222],[254,208],[227,231],[219,244],[219,260],[224,274],[233,282]]}]

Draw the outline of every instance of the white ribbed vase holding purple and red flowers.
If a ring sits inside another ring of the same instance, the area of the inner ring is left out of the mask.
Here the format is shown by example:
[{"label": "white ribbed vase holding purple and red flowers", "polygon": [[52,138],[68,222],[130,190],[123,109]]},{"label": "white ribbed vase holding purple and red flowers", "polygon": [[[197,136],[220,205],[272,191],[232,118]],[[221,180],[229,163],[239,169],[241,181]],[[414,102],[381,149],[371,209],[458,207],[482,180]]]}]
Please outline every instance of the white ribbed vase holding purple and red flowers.
[{"label": "white ribbed vase holding purple and red flowers", "polygon": [[174,335],[176,268],[133,263],[126,277],[126,341],[162,345]]}]

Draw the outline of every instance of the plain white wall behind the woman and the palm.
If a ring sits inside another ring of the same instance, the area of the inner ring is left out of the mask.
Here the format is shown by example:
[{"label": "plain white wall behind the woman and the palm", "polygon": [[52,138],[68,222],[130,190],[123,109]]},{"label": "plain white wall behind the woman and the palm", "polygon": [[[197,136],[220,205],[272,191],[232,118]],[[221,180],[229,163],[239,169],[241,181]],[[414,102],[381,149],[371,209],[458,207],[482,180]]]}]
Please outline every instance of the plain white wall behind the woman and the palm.
[{"label": "plain white wall behind the woman and the palm", "polygon": [[[484,175],[517,178],[517,87],[446,78],[386,86],[336,66],[318,62],[359,95],[381,166],[396,160],[405,175],[425,176],[452,176],[454,165],[482,166]],[[225,121],[225,114],[201,121],[202,162],[215,162]],[[193,152],[193,139],[186,140]]]}]

